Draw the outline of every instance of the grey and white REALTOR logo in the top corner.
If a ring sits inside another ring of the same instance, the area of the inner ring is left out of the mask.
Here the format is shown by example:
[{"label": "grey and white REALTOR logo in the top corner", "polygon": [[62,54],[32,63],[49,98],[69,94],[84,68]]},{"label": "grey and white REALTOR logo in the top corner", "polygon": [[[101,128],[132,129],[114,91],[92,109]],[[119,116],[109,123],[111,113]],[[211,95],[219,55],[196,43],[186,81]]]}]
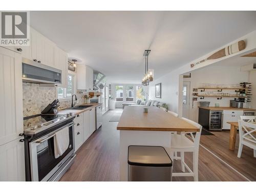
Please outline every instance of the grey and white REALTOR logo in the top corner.
[{"label": "grey and white REALTOR logo in the top corner", "polygon": [[29,12],[1,12],[2,46],[29,46]]}]

